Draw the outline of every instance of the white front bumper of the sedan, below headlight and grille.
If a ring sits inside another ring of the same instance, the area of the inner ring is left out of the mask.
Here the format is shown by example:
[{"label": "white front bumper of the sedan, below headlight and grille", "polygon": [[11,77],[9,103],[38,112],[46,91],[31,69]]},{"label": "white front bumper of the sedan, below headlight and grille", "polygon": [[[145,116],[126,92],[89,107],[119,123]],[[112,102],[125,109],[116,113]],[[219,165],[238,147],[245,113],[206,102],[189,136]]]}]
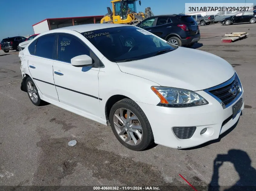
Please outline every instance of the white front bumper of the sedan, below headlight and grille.
[{"label": "white front bumper of the sedan, below headlight and grille", "polygon": [[[205,142],[217,139],[219,135],[231,128],[239,119],[241,111],[244,109],[244,103],[237,116],[232,119],[232,103],[229,107],[223,109],[221,104],[211,95],[204,91],[197,91],[204,97],[209,104],[196,107],[170,108],[150,105],[137,102],[146,114],[153,131],[155,143],[171,148],[190,148],[201,145]],[[240,98],[243,98],[243,93]],[[239,100],[238,99],[238,100]],[[226,119],[230,119],[225,121]],[[223,122],[225,125],[222,126]],[[173,127],[196,127],[191,138],[179,139]],[[201,130],[207,128],[204,134]]]}]

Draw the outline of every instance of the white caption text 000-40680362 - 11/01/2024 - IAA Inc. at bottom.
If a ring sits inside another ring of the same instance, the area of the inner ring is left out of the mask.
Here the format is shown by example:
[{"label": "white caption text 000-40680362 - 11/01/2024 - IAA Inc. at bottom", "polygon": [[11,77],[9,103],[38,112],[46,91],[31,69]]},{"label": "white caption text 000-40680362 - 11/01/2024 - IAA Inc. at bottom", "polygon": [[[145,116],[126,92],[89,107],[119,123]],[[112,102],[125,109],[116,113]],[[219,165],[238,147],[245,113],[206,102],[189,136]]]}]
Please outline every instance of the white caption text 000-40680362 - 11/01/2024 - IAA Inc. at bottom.
[{"label": "white caption text 000-40680362 - 11/01/2024 - IAA Inc. at bottom", "polygon": [[93,190],[160,190],[155,186],[94,186]]}]

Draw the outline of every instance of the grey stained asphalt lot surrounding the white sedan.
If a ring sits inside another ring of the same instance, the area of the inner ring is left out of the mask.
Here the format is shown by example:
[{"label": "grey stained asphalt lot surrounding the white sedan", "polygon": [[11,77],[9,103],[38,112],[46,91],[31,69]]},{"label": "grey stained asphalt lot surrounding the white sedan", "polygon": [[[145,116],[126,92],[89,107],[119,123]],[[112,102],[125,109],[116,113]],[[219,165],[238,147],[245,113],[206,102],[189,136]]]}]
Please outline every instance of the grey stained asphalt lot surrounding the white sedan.
[{"label": "grey stained asphalt lot surrounding the white sedan", "polygon": [[[18,52],[5,55],[0,50],[0,186],[145,185],[184,190],[181,186],[187,183],[179,174],[195,188],[205,186],[198,191],[208,190],[207,185],[217,184],[216,180],[220,186],[238,180],[256,186],[256,24],[218,23],[200,26],[200,31],[202,39],[193,48],[220,56],[234,67],[244,88],[245,108],[238,124],[221,138],[184,150],[154,145],[131,151],[110,127],[50,104],[34,106],[20,90]],[[226,32],[249,36],[221,43]],[[73,139],[77,145],[68,147]],[[223,164],[217,170],[214,159],[228,152],[220,157]]]}]

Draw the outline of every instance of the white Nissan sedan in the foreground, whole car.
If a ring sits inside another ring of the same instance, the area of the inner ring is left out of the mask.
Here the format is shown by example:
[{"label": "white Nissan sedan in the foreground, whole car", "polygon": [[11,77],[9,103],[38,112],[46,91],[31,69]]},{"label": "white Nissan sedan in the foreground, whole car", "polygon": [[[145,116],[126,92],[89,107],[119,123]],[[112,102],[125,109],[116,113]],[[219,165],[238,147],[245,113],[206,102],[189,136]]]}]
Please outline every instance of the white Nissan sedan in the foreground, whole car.
[{"label": "white Nissan sedan in the foreground, whole car", "polygon": [[[136,42],[125,46],[127,40]],[[19,53],[21,89],[111,128],[122,145],[200,145],[244,109],[243,88],[224,59],[177,47],[130,25],[87,24],[35,37]]]}]

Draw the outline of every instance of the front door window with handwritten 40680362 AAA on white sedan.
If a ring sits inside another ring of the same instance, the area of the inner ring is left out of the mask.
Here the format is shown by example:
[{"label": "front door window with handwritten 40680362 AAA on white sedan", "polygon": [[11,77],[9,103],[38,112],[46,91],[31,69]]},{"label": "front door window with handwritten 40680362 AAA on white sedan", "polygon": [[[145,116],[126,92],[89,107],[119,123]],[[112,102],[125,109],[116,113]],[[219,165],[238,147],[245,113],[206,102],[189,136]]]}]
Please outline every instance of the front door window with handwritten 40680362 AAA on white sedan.
[{"label": "front door window with handwritten 40680362 AAA on white sedan", "polygon": [[71,62],[71,58],[79,55],[90,56],[89,49],[75,37],[59,34],[58,37],[58,60]]}]

